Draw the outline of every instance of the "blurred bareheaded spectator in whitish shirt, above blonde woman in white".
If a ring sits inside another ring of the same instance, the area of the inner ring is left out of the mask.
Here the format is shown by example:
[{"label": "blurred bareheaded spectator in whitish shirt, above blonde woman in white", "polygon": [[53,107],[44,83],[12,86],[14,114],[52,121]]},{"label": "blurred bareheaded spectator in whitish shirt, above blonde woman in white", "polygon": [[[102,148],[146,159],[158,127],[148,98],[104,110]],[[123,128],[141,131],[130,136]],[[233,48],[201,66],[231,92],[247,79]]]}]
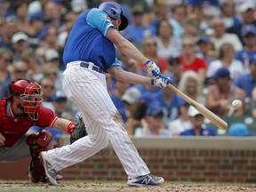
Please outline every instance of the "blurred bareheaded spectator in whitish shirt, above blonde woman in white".
[{"label": "blurred bareheaded spectator in whitish shirt, above blonde woman in white", "polygon": [[235,51],[239,52],[243,49],[243,44],[236,34],[229,34],[226,32],[224,21],[222,18],[215,18],[212,20],[212,28],[214,30],[212,42],[217,51],[220,50],[222,44],[232,44]]}]

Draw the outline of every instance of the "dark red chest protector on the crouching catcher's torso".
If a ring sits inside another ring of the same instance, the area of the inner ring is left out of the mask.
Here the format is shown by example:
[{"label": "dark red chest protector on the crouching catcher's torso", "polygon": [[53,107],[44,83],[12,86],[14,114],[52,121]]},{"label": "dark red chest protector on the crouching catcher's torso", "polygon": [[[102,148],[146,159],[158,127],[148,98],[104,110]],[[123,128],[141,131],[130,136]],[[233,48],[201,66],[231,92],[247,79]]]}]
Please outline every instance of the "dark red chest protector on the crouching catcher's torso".
[{"label": "dark red chest protector on the crouching catcher's torso", "polygon": [[12,117],[5,112],[6,100],[0,100],[0,132],[5,138],[4,147],[11,147],[34,124],[29,116]]}]

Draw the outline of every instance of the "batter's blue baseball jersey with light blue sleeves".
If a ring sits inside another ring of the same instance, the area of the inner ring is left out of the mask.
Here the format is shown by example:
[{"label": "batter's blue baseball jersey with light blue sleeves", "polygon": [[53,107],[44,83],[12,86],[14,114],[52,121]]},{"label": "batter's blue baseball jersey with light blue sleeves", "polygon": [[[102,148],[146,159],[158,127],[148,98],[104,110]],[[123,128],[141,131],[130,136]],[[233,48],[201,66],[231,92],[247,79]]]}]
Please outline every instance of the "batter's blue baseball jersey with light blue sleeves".
[{"label": "batter's blue baseball jersey with light blue sleeves", "polygon": [[114,44],[108,40],[108,28],[116,28],[107,13],[93,8],[82,12],[68,36],[64,48],[63,61],[83,60],[106,71],[111,66],[121,66],[116,59]]}]

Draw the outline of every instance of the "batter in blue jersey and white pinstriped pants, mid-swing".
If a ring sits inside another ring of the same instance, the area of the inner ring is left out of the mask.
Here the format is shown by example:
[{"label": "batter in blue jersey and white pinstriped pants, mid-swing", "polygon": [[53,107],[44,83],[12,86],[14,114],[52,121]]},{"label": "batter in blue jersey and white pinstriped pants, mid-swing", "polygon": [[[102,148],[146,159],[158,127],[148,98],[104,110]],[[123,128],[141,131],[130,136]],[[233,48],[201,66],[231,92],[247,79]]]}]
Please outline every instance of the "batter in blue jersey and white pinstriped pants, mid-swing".
[{"label": "batter in blue jersey and white pinstriped pants, mid-swing", "polygon": [[[62,76],[68,99],[82,110],[88,136],[72,145],[40,154],[45,173],[52,184],[56,172],[93,156],[111,142],[128,175],[128,185],[158,185],[161,177],[150,174],[127,132],[122,117],[108,95],[108,72],[118,81],[129,84],[167,86],[169,78],[160,74],[156,63],[145,58],[133,44],[118,33],[128,25],[119,4],[105,2],[99,8],[82,12],[72,28],[63,60],[67,65]],[[129,58],[145,63],[153,78],[124,71],[116,59],[115,46]]]}]

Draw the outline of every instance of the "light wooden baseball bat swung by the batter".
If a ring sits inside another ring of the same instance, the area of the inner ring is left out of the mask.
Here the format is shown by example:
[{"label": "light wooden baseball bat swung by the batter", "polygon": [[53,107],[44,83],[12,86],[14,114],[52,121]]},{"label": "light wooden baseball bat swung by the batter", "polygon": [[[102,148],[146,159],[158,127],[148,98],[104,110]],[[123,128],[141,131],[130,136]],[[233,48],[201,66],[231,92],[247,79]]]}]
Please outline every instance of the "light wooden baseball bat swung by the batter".
[{"label": "light wooden baseball bat swung by the batter", "polygon": [[205,108],[202,104],[196,102],[196,100],[192,100],[191,98],[188,97],[188,95],[184,94],[183,92],[180,92],[175,86],[172,84],[167,85],[168,88],[172,89],[173,92],[176,92],[178,95],[180,95],[183,100],[186,100],[189,105],[193,106],[196,108],[196,110],[199,111],[203,116],[205,116],[207,119],[209,119],[212,124],[215,124],[218,126],[220,129],[226,130],[228,127],[228,124],[223,121],[219,116],[216,116],[215,114],[212,113],[208,108]]}]

